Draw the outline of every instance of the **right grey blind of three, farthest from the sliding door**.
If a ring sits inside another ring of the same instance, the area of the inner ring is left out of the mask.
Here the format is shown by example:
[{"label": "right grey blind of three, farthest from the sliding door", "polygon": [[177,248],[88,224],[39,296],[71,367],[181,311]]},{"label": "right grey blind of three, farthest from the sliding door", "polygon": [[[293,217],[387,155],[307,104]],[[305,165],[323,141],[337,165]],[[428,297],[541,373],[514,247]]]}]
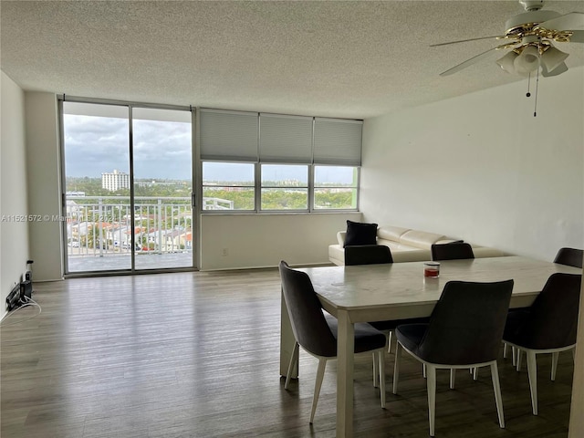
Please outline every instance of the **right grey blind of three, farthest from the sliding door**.
[{"label": "right grey blind of three, farthest from the sliding door", "polygon": [[362,120],[314,120],[314,163],[361,165]]}]

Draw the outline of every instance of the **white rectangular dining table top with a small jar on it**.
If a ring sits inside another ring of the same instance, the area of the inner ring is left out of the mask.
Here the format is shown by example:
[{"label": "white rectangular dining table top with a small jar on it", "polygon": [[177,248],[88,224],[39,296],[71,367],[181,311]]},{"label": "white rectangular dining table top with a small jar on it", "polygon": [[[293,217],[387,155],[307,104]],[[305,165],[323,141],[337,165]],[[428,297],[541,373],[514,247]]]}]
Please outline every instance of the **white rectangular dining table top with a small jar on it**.
[{"label": "white rectangular dining table top with a small jar on it", "polygon": [[553,273],[582,273],[576,267],[521,256],[440,263],[439,278],[425,278],[423,262],[300,270],[310,276],[323,308],[333,315],[339,309],[348,310],[352,322],[429,316],[450,280],[492,282],[513,278],[511,307],[529,306]]}]

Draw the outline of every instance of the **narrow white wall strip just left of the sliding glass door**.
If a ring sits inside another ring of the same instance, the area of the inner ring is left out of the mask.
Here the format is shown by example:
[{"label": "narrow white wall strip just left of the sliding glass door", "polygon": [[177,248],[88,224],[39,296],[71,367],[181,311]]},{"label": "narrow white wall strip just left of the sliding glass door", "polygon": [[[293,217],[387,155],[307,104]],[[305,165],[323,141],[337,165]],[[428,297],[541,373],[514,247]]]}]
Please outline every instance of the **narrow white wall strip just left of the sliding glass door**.
[{"label": "narrow white wall strip just left of the sliding glass door", "polygon": [[28,211],[42,220],[29,224],[34,280],[62,278],[59,214],[57,97],[26,91],[26,177]]}]

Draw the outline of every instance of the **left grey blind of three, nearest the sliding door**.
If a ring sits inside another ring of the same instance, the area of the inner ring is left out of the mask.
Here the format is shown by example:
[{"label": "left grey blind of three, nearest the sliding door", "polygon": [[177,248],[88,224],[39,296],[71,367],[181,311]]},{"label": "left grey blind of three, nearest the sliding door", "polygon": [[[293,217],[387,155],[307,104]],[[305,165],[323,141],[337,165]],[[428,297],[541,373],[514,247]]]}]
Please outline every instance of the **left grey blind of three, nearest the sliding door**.
[{"label": "left grey blind of three, nearest the sliding door", "polygon": [[201,159],[257,161],[256,112],[201,110]]}]

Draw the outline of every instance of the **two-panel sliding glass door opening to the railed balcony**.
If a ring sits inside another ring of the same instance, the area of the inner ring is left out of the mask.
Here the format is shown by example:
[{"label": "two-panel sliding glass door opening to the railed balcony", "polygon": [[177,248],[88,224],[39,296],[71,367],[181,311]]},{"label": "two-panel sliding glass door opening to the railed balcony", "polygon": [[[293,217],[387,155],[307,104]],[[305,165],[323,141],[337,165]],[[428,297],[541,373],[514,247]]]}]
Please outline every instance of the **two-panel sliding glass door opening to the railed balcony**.
[{"label": "two-panel sliding glass door opening to the railed balcony", "polygon": [[192,267],[191,112],[62,109],[66,272]]}]

